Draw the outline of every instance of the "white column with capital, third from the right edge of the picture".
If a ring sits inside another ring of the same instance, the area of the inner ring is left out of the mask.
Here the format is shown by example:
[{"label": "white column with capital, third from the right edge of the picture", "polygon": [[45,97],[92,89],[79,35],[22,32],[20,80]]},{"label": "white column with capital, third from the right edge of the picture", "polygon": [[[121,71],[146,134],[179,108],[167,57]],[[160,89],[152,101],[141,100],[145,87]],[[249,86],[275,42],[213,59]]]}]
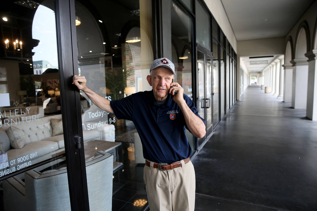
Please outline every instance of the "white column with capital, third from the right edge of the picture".
[{"label": "white column with capital, third from the right edge of the picture", "polygon": [[284,67],[284,90],[283,90],[283,102],[292,102],[293,92],[293,65],[287,63],[282,65]]}]

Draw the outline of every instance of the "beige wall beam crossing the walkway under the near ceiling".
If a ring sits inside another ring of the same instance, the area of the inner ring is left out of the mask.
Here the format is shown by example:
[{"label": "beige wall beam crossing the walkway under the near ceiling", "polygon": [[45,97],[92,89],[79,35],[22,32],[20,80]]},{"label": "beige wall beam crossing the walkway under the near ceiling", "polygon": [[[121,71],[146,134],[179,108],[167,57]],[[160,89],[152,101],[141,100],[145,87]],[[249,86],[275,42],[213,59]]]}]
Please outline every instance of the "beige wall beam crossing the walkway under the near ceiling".
[{"label": "beige wall beam crossing the walkway under the near ceiling", "polygon": [[242,40],[237,42],[239,56],[264,56],[284,54],[285,37],[275,37],[257,40]]}]

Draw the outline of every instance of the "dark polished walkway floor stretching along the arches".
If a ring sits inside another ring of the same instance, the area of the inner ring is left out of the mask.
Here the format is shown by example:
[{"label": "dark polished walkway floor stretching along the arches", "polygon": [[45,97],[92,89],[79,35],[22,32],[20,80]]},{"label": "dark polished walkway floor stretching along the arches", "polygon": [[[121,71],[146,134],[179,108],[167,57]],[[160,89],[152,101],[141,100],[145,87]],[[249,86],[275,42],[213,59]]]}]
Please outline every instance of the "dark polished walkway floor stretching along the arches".
[{"label": "dark polished walkway floor stretching along the arches", "polygon": [[317,210],[317,122],[249,86],[193,159],[195,210]]}]

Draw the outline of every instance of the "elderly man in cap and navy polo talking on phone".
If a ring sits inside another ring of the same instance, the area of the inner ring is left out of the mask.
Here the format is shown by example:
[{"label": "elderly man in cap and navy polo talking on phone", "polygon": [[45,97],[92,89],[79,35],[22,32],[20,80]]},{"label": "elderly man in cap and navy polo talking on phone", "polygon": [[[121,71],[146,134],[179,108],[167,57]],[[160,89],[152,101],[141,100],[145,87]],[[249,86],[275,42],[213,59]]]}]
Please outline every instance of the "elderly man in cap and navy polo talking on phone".
[{"label": "elderly man in cap and navy polo talking on phone", "polygon": [[175,67],[169,59],[156,59],[146,78],[152,90],[114,101],[90,90],[85,77],[73,78],[73,84],[100,109],[114,113],[118,119],[133,121],[146,159],[144,183],[152,211],[195,207],[195,171],[189,159],[191,147],[185,127],[202,138],[205,122],[194,102],[184,95],[184,89],[174,82],[174,76]]}]

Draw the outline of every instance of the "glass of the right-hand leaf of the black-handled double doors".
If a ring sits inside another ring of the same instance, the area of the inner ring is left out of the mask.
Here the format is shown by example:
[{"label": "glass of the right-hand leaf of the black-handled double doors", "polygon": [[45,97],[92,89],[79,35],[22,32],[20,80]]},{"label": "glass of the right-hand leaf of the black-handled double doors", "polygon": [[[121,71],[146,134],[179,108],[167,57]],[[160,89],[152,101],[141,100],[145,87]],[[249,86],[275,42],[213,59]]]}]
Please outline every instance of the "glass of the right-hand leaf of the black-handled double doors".
[{"label": "glass of the right-hand leaf of the black-handled double doors", "polygon": [[206,126],[207,131],[212,126],[212,85],[211,85],[211,73],[212,73],[212,64],[211,64],[211,56],[206,55],[206,101],[205,107],[207,112],[206,118]]}]

